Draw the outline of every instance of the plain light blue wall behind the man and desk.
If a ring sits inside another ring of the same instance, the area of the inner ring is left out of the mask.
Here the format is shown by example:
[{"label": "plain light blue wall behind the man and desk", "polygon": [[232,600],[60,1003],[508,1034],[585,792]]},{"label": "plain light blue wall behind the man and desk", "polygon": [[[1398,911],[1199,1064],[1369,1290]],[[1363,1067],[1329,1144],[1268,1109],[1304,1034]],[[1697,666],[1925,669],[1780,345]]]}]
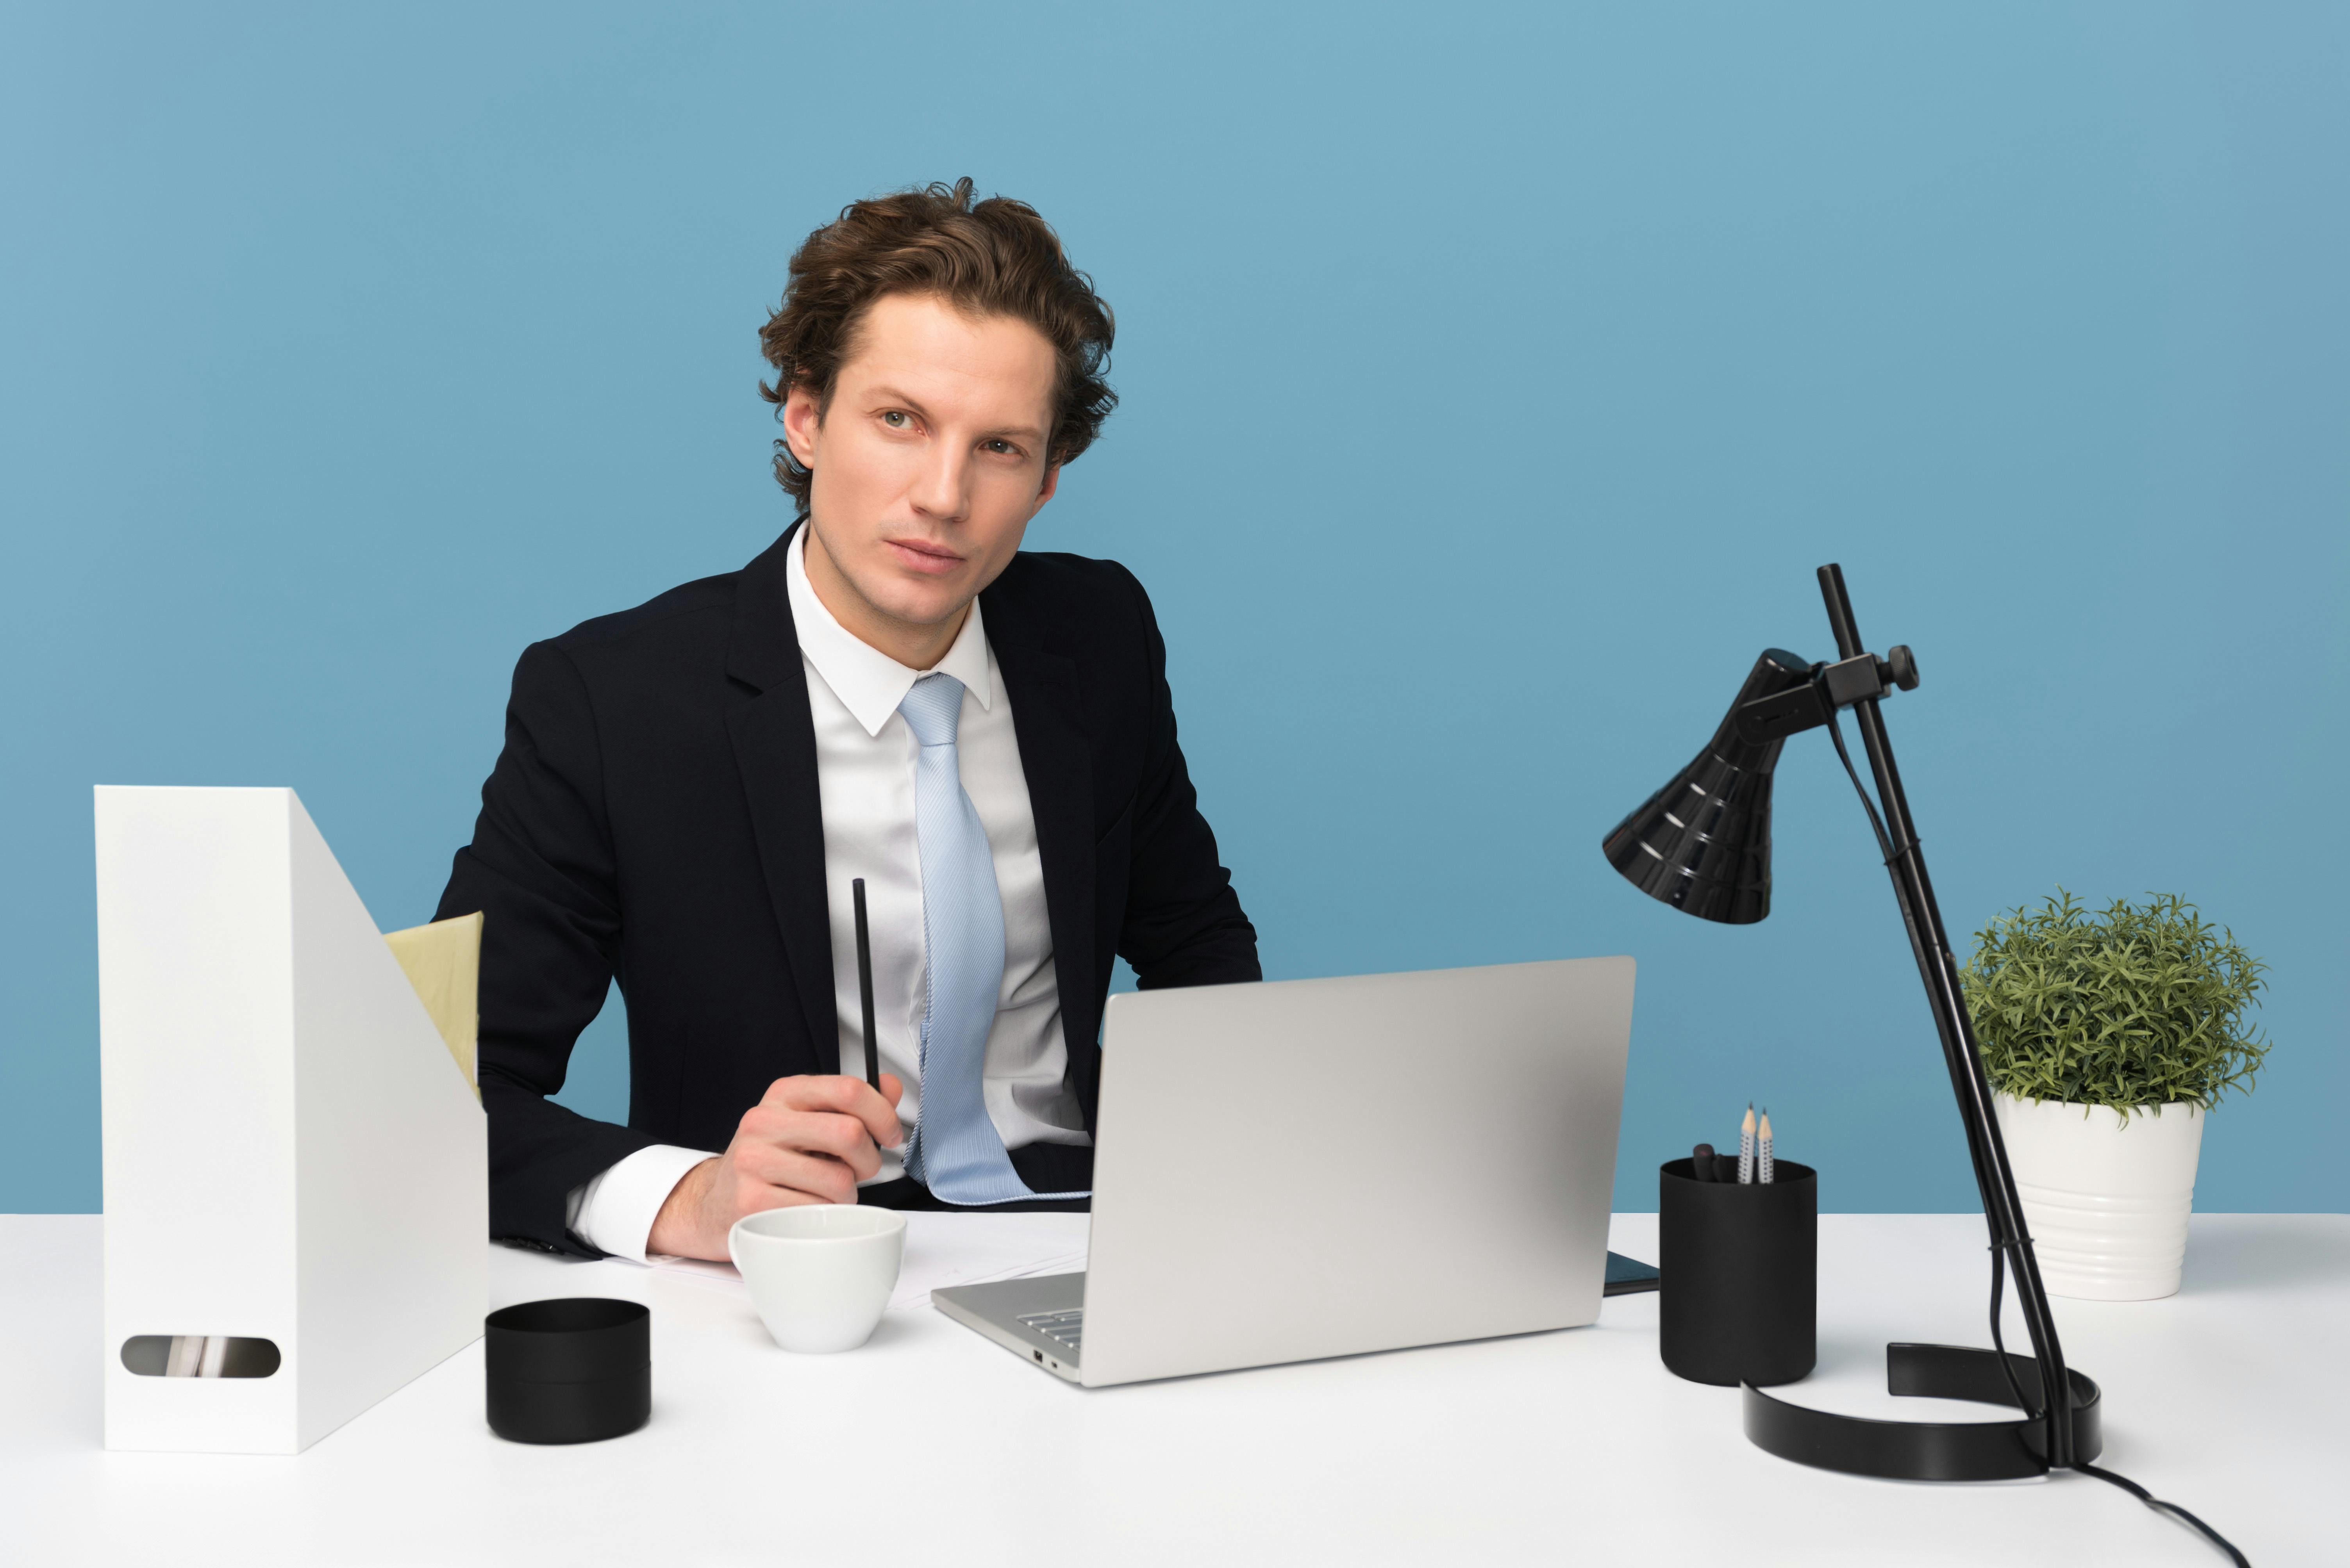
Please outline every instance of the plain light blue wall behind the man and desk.
[{"label": "plain light blue wall behind the man and desk", "polygon": [[89,786],[294,784],[428,918],[522,646],[785,526],[792,246],[959,174],[1119,310],[1032,542],[1152,587],[1269,974],[1629,951],[1619,1207],[1748,1099],[1972,1207],[1824,737],[1770,922],[1598,854],[1835,559],[1953,932],[2232,925],[2200,1204],[2345,1207],[2343,7],[327,9],[0,14],[0,1209],[99,1204]]}]

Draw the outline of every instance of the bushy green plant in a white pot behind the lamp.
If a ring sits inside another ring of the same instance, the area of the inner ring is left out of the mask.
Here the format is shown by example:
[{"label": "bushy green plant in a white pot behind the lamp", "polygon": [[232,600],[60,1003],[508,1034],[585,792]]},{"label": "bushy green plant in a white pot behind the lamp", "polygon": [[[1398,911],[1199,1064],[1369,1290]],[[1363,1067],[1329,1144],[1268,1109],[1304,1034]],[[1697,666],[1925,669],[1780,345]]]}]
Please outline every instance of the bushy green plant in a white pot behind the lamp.
[{"label": "bushy green plant in a white pot behind the lamp", "polygon": [[2204,1115],[2268,1054],[2244,1028],[2268,965],[2176,894],[2089,913],[2056,892],[1976,932],[1960,974],[2040,1277],[2171,1296]]}]

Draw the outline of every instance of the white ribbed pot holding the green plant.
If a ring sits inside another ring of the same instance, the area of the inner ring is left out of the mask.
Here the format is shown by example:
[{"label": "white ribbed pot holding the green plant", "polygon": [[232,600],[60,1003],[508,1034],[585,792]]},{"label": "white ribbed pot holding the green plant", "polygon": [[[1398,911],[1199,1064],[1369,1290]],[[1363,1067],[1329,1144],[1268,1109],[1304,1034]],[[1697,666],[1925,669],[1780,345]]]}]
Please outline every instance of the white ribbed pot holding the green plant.
[{"label": "white ribbed pot holding the green plant", "polygon": [[2150,1106],[2117,1113],[2007,1094],[1993,1103],[2049,1293],[2176,1296],[2195,1209],[2202,1106],[2181,1101],[2155,1115]]}]

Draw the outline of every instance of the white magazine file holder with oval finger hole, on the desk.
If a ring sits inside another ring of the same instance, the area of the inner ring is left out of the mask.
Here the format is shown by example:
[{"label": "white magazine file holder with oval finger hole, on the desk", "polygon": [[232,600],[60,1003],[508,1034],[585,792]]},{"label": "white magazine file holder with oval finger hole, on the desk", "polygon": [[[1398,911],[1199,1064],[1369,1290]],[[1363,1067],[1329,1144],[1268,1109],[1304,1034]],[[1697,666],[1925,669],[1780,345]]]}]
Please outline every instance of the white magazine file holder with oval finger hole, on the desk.
[{"label": "white magazine file holder with oval finger hole, on the desk", "polygon": [[479,915],[411,986],[291,789],[101,786],[96,847],[106,1446],[298,1453],[482,1336]]}]

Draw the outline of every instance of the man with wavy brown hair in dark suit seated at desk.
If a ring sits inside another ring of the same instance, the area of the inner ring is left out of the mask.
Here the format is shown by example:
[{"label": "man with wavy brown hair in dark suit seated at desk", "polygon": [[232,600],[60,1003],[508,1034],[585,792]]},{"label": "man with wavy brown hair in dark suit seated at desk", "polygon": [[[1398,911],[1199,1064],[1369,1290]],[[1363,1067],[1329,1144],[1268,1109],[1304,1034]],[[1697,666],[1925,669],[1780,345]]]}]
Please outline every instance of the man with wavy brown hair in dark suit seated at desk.
[{"label": "man with wavy brown hair in dark suit seated at desk", "polygon": [[[524,650],[439,904],[486,913],[491,1232],[550,1251],[724,1258],[808,1202],[1083,1207],[1112,955],[1260,979],[1149,599],[1018,554],[1116,404],[1053,230],[968,178],[858,202],[759,336],[799,521]],[[545,1099],[613,979],[627,1127]]]}]

